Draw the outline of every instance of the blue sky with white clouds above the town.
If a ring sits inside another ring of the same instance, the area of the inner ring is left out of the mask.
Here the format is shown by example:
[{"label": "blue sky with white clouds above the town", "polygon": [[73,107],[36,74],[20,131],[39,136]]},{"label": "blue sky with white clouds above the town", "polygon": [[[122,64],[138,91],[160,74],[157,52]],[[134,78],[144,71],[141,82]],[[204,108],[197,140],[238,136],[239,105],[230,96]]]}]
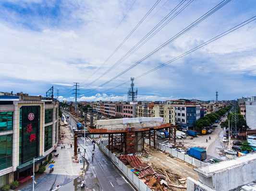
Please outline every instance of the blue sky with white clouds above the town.
[{"label": "blue sky with white clouds above the town", "polygon": [[256,96],[256,20],[181,56],[255,16],[254,0],[0,0],[0,91],[127,101],[134,77],[138,101]]}]

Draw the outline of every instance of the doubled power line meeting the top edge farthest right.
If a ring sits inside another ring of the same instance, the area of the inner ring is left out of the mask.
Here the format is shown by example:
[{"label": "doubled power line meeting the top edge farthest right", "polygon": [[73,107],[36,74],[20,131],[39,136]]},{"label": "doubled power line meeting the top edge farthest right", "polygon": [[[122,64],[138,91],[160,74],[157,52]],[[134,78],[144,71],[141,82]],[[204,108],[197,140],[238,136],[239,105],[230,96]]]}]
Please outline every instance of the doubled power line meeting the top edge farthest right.
[{"label": "doubled power line meeting the top edge farthest right", "polygon": [[[164,48],[165,46],[169,45],[171,42],[173,42],[174,40],[176,40],[178,37],[180,37],[181,35],[185,34],[187,31],[189,31],[190,29],[192,29],[193,27],[195,27],[198,23],[204,21],[207,17],[209,17],[210,15],[212,15],[214,12],[218,11],[220,8],[222,8],[224,5],[226,5],[228,2],[230,2],[231,0],[223,0],[222,2],[220,2],[217,6],[215,6],[214,8],[212,8],[210,11],[207,11],[207,13],[205,13],[203,16],[201,16],[200,18],[198,18],[197,20],[195,20],[195,22],[192,22],[189,26],[187,26],[186,28],[184,28],[181,32],[179,32],[178,34],[174,35],[173,37],[171,37],[171,39],[169,39],[168,41],[166,41],[165,43],[163,43],[162,45],[158,46],[155,50],[153,50],[152,52],[150,52],[149,54],[147,54],[146,56],[144,56],[142,59],[140,59],[139,61],[137,61],[136,63],[134,63],[132,66],[128,67],[127,69],[123,70],[121,73],[119,73],[117,76],[113,77],[112,79],[108,80],[107,82],[101,84],[100,86],[98,86],[98,88],[108,84],[109,82],[111,82],[112,80],[120,77],[122,74],[126,73],[127,71],[129,71],[130,69],[136,67],[138,64],[142,63],[143,61],[145,61],[147,58],[149,58],[150,56],[154,55],[155,53],[157,53],[158,51],[160,51],[162,48]],[[95,88],[93,90],[97,90],[98,88]],[[90,90],[90,91],[93,91]],[[89,91],[89,92],[90,92]]]}]

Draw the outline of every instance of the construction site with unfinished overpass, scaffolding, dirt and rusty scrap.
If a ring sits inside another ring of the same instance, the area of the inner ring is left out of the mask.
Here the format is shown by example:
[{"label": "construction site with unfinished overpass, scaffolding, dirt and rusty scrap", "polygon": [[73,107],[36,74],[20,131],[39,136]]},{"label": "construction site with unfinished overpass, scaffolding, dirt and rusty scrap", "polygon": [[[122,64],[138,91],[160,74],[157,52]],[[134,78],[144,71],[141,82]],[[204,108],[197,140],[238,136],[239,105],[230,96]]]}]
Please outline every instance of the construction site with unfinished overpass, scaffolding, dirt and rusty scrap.
[{"label": "construction site with unfinished overpass, scaffolding, dirt and rusty scrap", "polygon": [[[192,165],[157,149],[156,131],[165,129],[175,137],[176,125],[163,123],[162,118],[96,120],[98,117],[93,118],[93,114],[85,116],[86,118],[76,118],[77,122],[85,125],[86,132],[74,132],[74,147],[79,135],[84,133],[91,137],[106,136],[106,147],[151,190],[184,191],[186,177],[198,180]],[[89,122],[84,122],[84,119],[88,119]],[[176,144],[169,136],[170,142]],[[74,156],[77,156],[76,151],[77,148],[74,148]]]}]

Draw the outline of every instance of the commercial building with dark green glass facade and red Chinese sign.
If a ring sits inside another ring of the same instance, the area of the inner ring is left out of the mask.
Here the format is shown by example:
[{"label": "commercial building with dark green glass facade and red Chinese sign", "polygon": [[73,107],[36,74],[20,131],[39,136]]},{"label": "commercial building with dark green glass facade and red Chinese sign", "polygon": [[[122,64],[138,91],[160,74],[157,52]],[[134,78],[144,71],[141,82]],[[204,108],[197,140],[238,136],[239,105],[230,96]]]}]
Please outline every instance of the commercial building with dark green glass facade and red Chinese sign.
[{"label": "commercial building with dark green glass facade and red Chinese sign", "polygon": [[0,188],[33,173],[58,143],[59,102],[0,96]]}]

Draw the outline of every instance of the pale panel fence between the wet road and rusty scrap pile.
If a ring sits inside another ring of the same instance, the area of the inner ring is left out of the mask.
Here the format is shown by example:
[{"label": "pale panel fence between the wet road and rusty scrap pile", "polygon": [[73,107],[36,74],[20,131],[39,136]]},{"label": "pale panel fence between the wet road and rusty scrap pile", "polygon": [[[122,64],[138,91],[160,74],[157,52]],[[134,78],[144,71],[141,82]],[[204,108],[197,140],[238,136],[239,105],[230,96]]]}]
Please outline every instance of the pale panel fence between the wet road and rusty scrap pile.
[{"label": "pale panel fence between the wet road and rusty scrap pile", "polygon": [[151,191],[146,184],[144,184],[130,169],[128,169],[119,160],[115,154],[111,153],[101,142],[99,142],[99,148],[112,160],[113,164],[122,172],[122,174],[130,180],[134,187],[139,191]]}]

